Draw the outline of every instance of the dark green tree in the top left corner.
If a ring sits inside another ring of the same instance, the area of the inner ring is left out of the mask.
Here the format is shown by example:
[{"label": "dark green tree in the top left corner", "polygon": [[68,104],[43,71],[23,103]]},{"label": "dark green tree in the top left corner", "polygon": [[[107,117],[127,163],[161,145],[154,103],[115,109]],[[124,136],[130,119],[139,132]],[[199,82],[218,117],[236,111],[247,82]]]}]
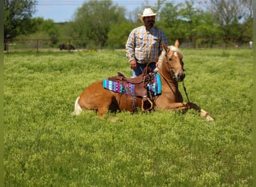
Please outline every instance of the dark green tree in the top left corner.
[{"label": "dark green tree in the top left corner", "polygon": [[4,0],[4,39],[31,31],[35,0]]}]

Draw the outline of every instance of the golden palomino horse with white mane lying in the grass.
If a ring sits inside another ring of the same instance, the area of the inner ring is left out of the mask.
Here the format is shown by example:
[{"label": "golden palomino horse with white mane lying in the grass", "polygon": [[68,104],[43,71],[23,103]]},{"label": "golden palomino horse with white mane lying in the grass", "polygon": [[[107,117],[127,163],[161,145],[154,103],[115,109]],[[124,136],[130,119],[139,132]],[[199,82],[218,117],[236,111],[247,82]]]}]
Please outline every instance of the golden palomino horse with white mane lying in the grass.
[{"label": "golden palomino horse with white mane lying in the grass", "polygon": [[[162,93],[153,96],[153,109],[181,111],[192,108],[198,111],[206,120],[213,120],[207,111],[204,111],[195,103],[183,102],[183,96],[178,90],[178,82],[182,82],[185,78],[183,55],[178,49],[179,45],[178,40],[176,40],[174,46],[163,44],[162,64],[158,70],[162,83]],[[143,105],[141,97],[135,97],[135,99],[138,107],[141,108],[141,105]],[[100,115],[106,114],[107,111],[133,111],[132,96],[109,91],[103,88],[103,81],[98,81],[89,85],[76,99],[73,114],[80,114],[82,108],[96,110]]]}]

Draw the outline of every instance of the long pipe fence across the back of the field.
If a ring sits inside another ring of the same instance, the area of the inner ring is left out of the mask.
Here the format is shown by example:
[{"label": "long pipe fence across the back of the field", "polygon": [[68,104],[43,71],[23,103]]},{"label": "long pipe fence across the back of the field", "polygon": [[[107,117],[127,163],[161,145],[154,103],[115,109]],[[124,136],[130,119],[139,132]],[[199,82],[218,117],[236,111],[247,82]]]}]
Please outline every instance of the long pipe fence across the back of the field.
[{"label": "long pipe fence across the back of the field", "polygon": [[[180,41],[180,48],[249,48],[252,37],[168,37],[168,44]],[[4,51],[73,51],[124,49],[125,39],[5,39]]]}]

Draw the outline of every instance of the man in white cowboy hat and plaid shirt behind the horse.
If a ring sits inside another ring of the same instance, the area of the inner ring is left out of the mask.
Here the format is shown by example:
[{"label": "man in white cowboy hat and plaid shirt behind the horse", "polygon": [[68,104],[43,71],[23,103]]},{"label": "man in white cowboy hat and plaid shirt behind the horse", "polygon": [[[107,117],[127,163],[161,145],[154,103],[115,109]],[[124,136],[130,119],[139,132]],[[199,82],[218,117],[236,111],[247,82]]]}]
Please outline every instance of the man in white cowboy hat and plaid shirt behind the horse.
[{"label": "man in white cowboy hat and plaid shirt behind the horse", "polygon": [[168,46],[165,33],[154,26],[157,13],[150,8],[145,8],[143,14],[138,14],[144,25],[134,28],[129,34],[126,52],[129,65],[132,69],[132,78],[143,73],[144,67],[154,70],[162,62],[158,59],[162,52],[162,43]]}]

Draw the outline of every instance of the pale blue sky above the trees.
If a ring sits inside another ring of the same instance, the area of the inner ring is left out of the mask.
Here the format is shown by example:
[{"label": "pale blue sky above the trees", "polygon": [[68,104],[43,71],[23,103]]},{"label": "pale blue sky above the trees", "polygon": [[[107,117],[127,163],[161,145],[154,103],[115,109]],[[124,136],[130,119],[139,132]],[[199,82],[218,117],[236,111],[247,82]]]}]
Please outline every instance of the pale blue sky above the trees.
[{"label": "pale blue sky above the trees", "polygon": [[[54,22],[68,22],[78,7],[88,0],[37,0],[34,17],[53,19]],[[141,4],[156,5],[157,0],[112,0],[113,4],[125,7],[127,11],[141,7]]]}]

